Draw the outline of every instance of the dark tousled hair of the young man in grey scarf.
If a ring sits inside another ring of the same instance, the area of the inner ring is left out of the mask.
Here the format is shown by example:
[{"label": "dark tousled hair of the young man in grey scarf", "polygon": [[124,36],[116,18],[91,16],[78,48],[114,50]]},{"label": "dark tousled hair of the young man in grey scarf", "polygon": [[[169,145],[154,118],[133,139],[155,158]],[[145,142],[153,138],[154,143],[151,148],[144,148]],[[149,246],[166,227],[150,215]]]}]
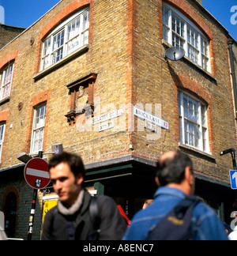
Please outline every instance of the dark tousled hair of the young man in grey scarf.
[{"label": "dark tousled hair of the young man in grey scarf", "polygon": [[55,168],[61,163],[68,164],[75,177],[81,173],[85,178],[85,166],[81,156],[69,152],[62,152],[62,154],[54,155],[49,161],[48,169]]}]

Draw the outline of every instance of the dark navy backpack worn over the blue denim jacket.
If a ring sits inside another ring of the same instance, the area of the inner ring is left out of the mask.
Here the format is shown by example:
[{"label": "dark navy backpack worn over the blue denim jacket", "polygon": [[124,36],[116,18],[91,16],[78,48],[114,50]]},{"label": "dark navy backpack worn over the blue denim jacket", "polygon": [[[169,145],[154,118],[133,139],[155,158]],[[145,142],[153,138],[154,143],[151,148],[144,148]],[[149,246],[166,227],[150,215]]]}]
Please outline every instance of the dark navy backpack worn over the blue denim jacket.
[{"label": "dark navy backpack worn over the blue denim jacket", "polygon": [[194,207],[201,199],[189,196],[179,202],[156,226],[145,240],[190,240],[192,239],[192,216]]}]

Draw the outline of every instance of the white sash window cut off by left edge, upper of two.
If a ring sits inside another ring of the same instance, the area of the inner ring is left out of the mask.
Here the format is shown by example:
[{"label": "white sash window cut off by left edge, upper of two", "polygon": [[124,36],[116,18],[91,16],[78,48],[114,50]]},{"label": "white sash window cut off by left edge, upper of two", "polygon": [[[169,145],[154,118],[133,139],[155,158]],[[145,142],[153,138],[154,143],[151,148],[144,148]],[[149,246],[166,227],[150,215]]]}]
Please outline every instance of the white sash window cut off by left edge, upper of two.
[{"label": "white sash window cut off by left edge, upper of two", "polygon": [[4,100],[10,96],[12,81],[13,81],[14,63],[9,64],[6,69],[0,71],[0,100]]}]

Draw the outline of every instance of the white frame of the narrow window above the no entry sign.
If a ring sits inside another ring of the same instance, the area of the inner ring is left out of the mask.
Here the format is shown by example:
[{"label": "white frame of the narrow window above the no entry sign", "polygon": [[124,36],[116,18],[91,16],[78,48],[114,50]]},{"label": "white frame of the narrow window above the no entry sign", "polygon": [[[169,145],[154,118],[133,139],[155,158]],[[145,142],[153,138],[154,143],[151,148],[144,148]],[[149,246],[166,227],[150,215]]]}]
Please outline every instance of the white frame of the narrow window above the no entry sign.
[{"label": "white frame of the narrow window above the no entry sign", "polygon": [[[37,112],[43,108],[44,108],[43,125],[36,126],[36,119],[39,118],[40,120],[40,116],[42,116],[42,115],[37,116]],[[44,129],[45,129],[45,121],[46,121],[46,111],[47,111],[47,103],[43,103],[37,107],[34,107],[34,117],[33,117],[33,125],[32,125],[32,141],[31,141],[31,149],[30,149],[31,153],[38,153],[39,151],[43,150],[43,137],[44,137]],[[39,137],[39,140],[37,140],[36,139],[37,132],[39,131],[40,133],[40,131],[42,130],[43,130],[43,136],[41,138]],[[39,141],[41,141],[41,143],[40,145],[38,145],[38,148],[36,149],[37,141],[38,141],[38,144],[39,144]]]}]

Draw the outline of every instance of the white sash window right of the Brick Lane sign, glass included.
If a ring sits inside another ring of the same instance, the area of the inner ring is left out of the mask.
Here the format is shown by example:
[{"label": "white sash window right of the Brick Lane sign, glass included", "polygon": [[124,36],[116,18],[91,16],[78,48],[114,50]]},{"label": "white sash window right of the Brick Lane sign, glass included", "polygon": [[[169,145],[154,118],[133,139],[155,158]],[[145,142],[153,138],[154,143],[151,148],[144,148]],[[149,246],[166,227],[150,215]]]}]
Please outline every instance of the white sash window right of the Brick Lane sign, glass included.
[{"label": "white sash window right of the Brick Lane sign, glass included", "polygon": [[183,92],[178,93],[179,141],[209,153],[207,106]]}]

